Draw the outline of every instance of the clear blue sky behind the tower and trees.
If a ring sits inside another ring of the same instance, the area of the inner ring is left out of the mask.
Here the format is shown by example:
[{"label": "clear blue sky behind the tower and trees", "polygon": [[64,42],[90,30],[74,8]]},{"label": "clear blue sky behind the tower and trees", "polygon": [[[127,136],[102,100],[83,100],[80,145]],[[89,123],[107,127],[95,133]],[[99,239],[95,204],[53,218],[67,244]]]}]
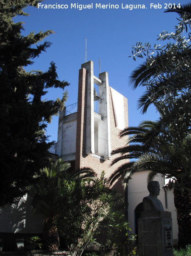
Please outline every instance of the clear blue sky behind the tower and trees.
[{"label": "clear blue sky behind the tower and trees", "polygon": [[[161,8],[150,8],[151,3]],[[47,52],[43,52],[39,58],[35,59],[29,70],[46,71],[51,61],[57,66],[58,78],[70,83],[67,87],[69,98],[66,105],[77,102],[78,94],[78,70],[85,62],[85,45],[87,38],[87,61],[94,62],[94,75],[99,76],[100,72],[107,71],[109,75],[109,85],[128,98],[129,126],[137,126],[143,120],[156,120],[158,114],[154,107],[150,107],[147,114],[140,114],[137,110],[137,100],[141,96],[143,89],[138,88],[133,91],[129,88],[129,75],[142,59],[134,61],[128,58],[131,55],[131,47],[136,42],[150,42],[152,45],[156,41],[157,35],[163,30],[172,32],[178,23],[175,13],[164,13],[165,3],[169,0],[127,0],[127,1],[87,1],[69,2],[64,0],[44,0],[44,5],[68,5],[67,9],[45,9],[45,8],[26,8],[29,17],[17,17],[15,21],[24,21],[23,35],[31,31],[38,33],[40,30],[53,30],[55,33],[46,38],[52,42]],[[92,9],[74,9],[71,3],[91,4]],[[115,4],[117,9],[99,9],[95,5]],[[185,2],[186,3],[186,2]],[[125,5],[145,5],[147,8],[122,9]],[[55,99],[62,97],[60,89],[51,89],[45,98]],[[57,140],[58,117],[54,117],[48,126],[47,133],[51,136],[50,140]]]}]

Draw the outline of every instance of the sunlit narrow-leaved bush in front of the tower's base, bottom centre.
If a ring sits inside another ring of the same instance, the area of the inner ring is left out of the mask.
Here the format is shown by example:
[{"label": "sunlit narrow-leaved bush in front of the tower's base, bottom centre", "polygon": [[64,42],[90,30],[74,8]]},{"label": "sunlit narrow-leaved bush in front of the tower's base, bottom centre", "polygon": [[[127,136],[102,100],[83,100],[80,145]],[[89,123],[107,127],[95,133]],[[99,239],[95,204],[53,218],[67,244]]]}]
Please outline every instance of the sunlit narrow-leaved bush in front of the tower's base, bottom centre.
[{"label": "sunlit narrow-leaved bush in front of the tower's base, bottom centre", "polygon": [[116,226],[113,223],[117,219],[113,208],[122,203],[121,197],[108,188],[104,173],[95,182],[65,180],[62,191],[65,207],[58,227],[71,255],[80,256],[85,248],[96,244],[95,236],[103,232],[102,228],[107,228],[104,234],[108,236],[122,229],[121,223]]}]

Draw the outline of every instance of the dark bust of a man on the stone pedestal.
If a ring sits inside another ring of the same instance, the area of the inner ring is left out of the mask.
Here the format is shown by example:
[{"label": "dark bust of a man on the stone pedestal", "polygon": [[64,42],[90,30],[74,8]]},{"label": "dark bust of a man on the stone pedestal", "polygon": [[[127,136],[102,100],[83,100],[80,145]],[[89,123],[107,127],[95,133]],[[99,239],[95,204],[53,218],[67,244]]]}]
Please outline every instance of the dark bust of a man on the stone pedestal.
[{"label": "dark bust of a man on the stone pedestal", "polygon": [[149,181],[147,185],[147,189],[149,190],[149,196],[144,197],[143,202],[143,210],[144,211],[163,211],[163,206],[161,201],[157,198],[160,194],[160,185],[158,181]]}]

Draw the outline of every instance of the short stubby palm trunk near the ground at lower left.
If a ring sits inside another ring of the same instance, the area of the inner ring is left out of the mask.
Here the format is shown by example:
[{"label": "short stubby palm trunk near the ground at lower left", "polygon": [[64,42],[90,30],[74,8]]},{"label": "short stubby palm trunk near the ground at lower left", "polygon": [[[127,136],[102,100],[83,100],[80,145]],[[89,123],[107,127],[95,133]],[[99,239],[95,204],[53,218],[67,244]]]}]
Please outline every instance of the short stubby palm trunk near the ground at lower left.
[{"label": "short stubby palm trunk near the ground at lower left", "polygon": [[58,229],[53,220],[45,222],[42,240],[44,249],[48,249],[49,251],[58,251],[60,246]]}]

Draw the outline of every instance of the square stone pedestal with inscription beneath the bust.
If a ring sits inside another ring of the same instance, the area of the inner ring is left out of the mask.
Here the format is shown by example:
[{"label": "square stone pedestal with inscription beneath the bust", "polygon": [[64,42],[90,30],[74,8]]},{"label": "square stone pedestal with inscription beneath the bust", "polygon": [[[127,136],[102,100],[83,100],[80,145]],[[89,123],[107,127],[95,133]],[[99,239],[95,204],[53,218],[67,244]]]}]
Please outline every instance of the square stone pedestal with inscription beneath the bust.
[{"label": "square stone pedestal with inscription beneath the bust", "polygon": [[173,256],[171,212],[142,211],[138,241],[139,256]]}]

